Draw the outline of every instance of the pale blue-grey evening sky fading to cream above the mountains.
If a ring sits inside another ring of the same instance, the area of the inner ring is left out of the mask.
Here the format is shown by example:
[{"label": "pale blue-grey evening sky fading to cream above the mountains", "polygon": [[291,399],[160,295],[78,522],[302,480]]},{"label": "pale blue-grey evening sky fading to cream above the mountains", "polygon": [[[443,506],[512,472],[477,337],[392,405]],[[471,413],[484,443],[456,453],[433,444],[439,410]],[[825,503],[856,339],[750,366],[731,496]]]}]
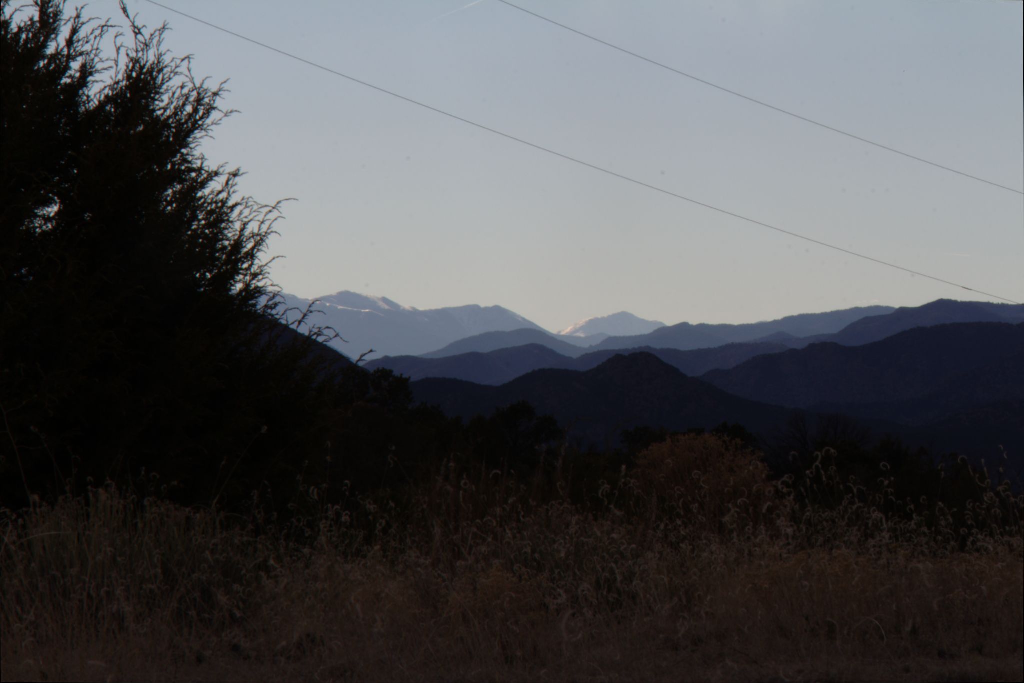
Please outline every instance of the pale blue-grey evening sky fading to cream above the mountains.
[{"label": "pale blue-grey evening sky fading to cream above the mountains", "polygon": [[[643,183],[1024,301],[1021,2],[161,0],[234,33]],[[290,198],[288,293],[500,304],[549,329],[629,310],[746,323],[998,299],[602,173],[218,32],[138,19],[238,113],[206,141],[241,190]],[[86,14],[119,17],[117,4]]]}]

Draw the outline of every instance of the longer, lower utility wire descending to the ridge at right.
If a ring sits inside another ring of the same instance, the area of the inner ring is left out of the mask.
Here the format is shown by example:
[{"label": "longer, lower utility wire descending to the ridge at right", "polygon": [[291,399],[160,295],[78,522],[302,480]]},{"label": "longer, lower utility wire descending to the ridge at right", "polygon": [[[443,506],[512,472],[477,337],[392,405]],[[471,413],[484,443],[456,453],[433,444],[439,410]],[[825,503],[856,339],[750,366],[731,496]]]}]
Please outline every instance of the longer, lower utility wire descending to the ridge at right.
[{"label": "longer, lower utility wire descending to the ridge at right", "polygon": [[282,55],[284,55],[286,57],[289,57],[291,59],[295,59],[296,61],[301,61],[304,65],[308,65],[308,66],[313,67],[315,69],[319,69],[321,71],[325,71],[325,72],[327,72],[329,74],[333,74],[335,76],[340,76],[341,78],[349,80],[349,81],[351,81],[353,83],[358,83],[359,85],[364,85],[364,86],[366,86],[368,88],[373,88],[374,90],[377,90],[378,92],[383,92],[384,94],[391,95],[392,97],[397,97],[398,99],[404,100],[404,101],[410,102],[412,104],[416,104],[417,106],[422,106],[423,109],[427,109],[427,110],[430,110],[431,112],[436,112],[437,114],[446,116],[450,119],[455,119],[456,121],[461,121],[462,123],[469,124],[470,126],[473,126],[475,128],[479,128],[480,130],[485,130],[488,133],[494,133],[495,135],[501,135],[502,137],[508,138],[510,140],[514,140],[515,142],[519,142],[520,144],[525,144],[527,146],[534,147],[535,150],[540,150],[541,152],[546,152],[549,155],[553,155],[555,157],[559,157],[561,159],[565,159],[566,161],[570,161],[570,162],[573,162],[575,164],[580,164],[581,166],[586,166],[587,168],[592,168],[595,171],[600,171],[601,173],[605,173],[607,175],[611,175],[611,176],[614,176],[616,178],[621,178],[623,180],[627,180],[627,181],[632,182],[634,184],[642,185],[644,187],[647,187],[648,189],[653,189],[654,191],[662,193],[663,195],[668,195],[670,197],[675,197],[676,199],[683,200],[684,202],[689,202],[690,204],[695,204],[695,205],[701,206],[701,207],[703,207],[706,209],[711,209],[712,211],[717,211],[717,212],[723,213],[723,214],[725,214],[727,216],[732,216],[733,218],[738,218],[738,219],[744,220],[744,221],[746,221],[749,223],[754,223],[755,225],[760,225],[762,227],[767,227],[769,229],[775,230],[776,232],[782,232],[783,234],[788,234],[790,237],[797,238],[798,240],[804,240],[806,242],[812,242],[812,243],[814,243],[816,245],[819,245],[821,247],[827,247],[828,249],[834,249],[836,251],[843,252],[844,254],[849,254],[850,256],[856,256],[857,258],[862,258],[862,259],[865,259],[867,261],[873,261],[874,263],[881,263],[882,265],[887,265],[890,268],[896,268],[898,270],[903,270],[904,272],[909,272],[910,274],[913,274],[913,275],[921,275],[922,278],[927,278],[929,280],[934,280],[935,282],[942,283],[944,285],[950,285],[952,287],[958,287],[959,289],[967,290],[968,292],[975,292],[977,294],[983,294],[983,295],[985,295],[987,297],[991,297],[993,299],[999,299],[1000,301],[1007,301],[1009,303],[1014,303],[1014,304],[1019,304],[1020,303],[1019,301],[1015,301],[1013,299],[1008,299],[1008,298],[1001,297],[1001,296],[999,296],[997,294],[990,294],[988,292],[982,292],[981,290],[976,290],[974,288],[967,287],[965,285],[959,285],[957,283],[950,282],[948,280],[943,280],[942,278],[936,278],[935,275],[930,275],[930,274],[928,274],[926,272],[921,272],[920,270],[911,270],[910,268],[905,268],[905,267],[903,267],[901,265],[897,265],[896,263],[890,263],[888,261],[883,261],[882,259],[878,259],[878,258],[874,258],[872,256],[867,256],[865,254],[860,254],[858,252],[851,251],[849,249],[844,249],[842,247],[837,247],[836,245],[830,245],[827,242],[821,242],[820,240],[815,240],[814,238],[809,238],[809,237],[806,237],[804,234],[799,234],[797,232],[793,232],[791,230],[786,230],[786,229],[783,229],[781,227],[776,227],[775,225],[770,225],[768,223],[762,222],[760,220],[756,220],[754,218],[748,218],[746,216],[742,216],[742,215],[740,215],[738,213],[733,213],[732,211],[727,211],[726,209],[721,209],[719,207],[712,206],[711,204],[706,204],[703,202],[699,202],[697,200],[690,199],[689,197],[684,197],[683,195],[678,195],[678,194],[676,194],[676,193],[674,193],[672,190],[665,189],[663,187],[658,187],[657,185],[652,185],[652,184],[649,184],[647,182],[644,182],[643,180],[637,180],[636,178],[631,178],[628,175],[623,175],[622,173],[616,173],[615,171],[610,171],[610,170],[608,170],[606,168],[602,168],[600,166],[596,166],[596,165],[591,164],[589,162],[585,162],[585,161],[582,161],[582,160],[577,159],[574,157],[570,157],[570,156],[562,154],[560,152],[556,152],[556,151],[551,150],[549,147],[545,147],[545,146],[537,144],[535,142],[530,142],[529,140],[524,140],[521,137],[516,137],[515,135],[510,135],[508,133],[503,133],[502,131],[496,130],[495,128],[488,128],[487,126],[484,126],[483,124],[476,123],[475,121],[470,121],[469,119],[464,119],[461,116],[457,116],[455,114],[451,114],[451,113],[445,112],[443,110],[439,110],[436,106],[431,106],[430,104],[425,104],[425,103],[423,103],[423,102],[421,102],[419,100],[413,99],[412,97],[407,97],[406,95],[400,95],[397,92],[393,92],[391,90],[387,90],[386,88],[382,88],[382,87],[380,87],[378,85],[374,85],[373,83],[368,83],[366,81],[360,81],[357,78],[354,78],[352,76],[348,76],[347,74],[342,74],[339,71],[335,71],[335,70],[330,69],[328,67],[325,67],[323,65],[318,65],[315,61],[310,61],[309,59],[304,59],[303,57],[300,57],[300,56],[297,56],[295,54],[292,54],[291,52],[286,52],[285,50],[279,49],[276,47],[272,47],[270,45],[267,45],[266,43],[261,43],[258,40],[254,40],[252,38],[248,38],[246,36],[243,36],[242,34],[234,33],[233,31],[229,31],[228,29],[224,29],[224,28],[219,27],[219,26],[217,26],[215,24],[210,24],[209,22],[205,22],[205,20],[203,20],[201,18],[193,16],[191,14],[186,14],[185,12],[179,11],[179,10],[174,9],[172,7],[168,7],[167,5],[163,5],[163,4],[159,3],[159,2],[155,2],[155,0],[145,0],[145,2],[148,2],[151,5],[156,5],[157,7],[162,7],[164,9],[166,9],[167,11],[173,12],[173,13],[178,14],[180,16],[184,16],[185,18],[189,18],[193,22],[197,22],[197,23],[202,24],[204,26],[208,26],[211,29],[215,29],[217,31],[220,31],[221,33],[226,33],[229,36],[234,36],[236,38],[239,38],[239,39],[244,40],[246,42],[252,43],[254,45],[258,45],[258,46],[260,46],[260,47],[264,48],[264,49],[270,50],[271,52],[276,52],[278,54],[282,54]]}]

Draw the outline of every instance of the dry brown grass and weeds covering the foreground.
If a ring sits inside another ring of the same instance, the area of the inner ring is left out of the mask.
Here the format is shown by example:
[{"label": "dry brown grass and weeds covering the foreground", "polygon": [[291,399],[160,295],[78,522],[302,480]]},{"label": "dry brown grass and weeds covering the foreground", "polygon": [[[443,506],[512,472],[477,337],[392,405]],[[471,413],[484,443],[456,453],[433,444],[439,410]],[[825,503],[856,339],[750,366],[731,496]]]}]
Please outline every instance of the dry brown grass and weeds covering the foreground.
[{"label": "dry brown grass and weeds covering the foreground", "polygon": [[1022,680],[1024,498],[896,501],[880,476],[772,480],[691,435],[586,505],[450,466],[281,524],[94,488],[5,513],[0,673]]}]

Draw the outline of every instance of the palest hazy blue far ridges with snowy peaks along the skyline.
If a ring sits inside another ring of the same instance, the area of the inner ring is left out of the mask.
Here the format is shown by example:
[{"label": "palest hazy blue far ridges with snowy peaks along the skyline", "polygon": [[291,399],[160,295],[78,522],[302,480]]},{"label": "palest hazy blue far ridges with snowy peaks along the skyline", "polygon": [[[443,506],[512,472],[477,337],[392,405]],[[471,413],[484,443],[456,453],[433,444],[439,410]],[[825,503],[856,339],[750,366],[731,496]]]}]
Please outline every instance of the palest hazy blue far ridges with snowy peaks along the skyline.
[{"label": "palest hazy blue far ridges with snowy peaks along the skyline", "polygon": [[[308,299],[288,294],[284,297],[288,305],[300,309],[309,303]],[[315,307],[322,312],[308,322],[332,327],[347,340],[335,340],[332,346],[353,358],[374,349],[371,359],[487,353],[525,344],[542,344],[572,358],[592,351],[650,348],[664,352],[746,342],[792,348],[822,341],[858,345],[921,326],[1024,321],[1024,305],[940,299],[915,307],[866,306],[741,325],[680,323],[656,327],[660,325],[657,321],[644,321],[621,311],[571,326],[566,329],[571,334],[553,334],[502,306],[471,304],[420,310],[387,297],[342,291],[322,297]],[[608,332],[594,332],[624,326],[655,329],[640,335],[608,336]]]}]

